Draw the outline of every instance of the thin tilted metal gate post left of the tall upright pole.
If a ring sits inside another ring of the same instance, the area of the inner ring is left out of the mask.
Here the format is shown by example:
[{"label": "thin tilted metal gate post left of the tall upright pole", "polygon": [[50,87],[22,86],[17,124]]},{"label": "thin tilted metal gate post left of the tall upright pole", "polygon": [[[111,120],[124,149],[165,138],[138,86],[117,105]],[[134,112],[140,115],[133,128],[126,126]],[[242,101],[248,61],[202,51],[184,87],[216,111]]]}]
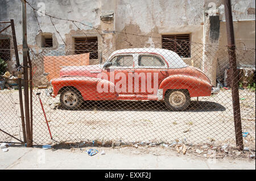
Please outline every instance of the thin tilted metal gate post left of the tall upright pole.
[{"label": "thin tilted metal gate post left of the tall upright pole", "polygon": [[[16,64],[19,67],[20,66],[20,63],[19,63],[19,53],[18,53],[18,47],[17,47],[17,41],[16,41],[16,33],[15,33],[15,27],[14,27],[14,20],[13,19],[11,19],[11,31],[13,32],[13,44],[14,44],[14,52],[15,52]],[[23,142],[27,142],[25,121],[24,121],[24,111],[23,111],[22,86],[21,86],[21,77],[20,77],[20,75],[18,75],[20,117],[21,117],[21,120],[22,120]]]}]

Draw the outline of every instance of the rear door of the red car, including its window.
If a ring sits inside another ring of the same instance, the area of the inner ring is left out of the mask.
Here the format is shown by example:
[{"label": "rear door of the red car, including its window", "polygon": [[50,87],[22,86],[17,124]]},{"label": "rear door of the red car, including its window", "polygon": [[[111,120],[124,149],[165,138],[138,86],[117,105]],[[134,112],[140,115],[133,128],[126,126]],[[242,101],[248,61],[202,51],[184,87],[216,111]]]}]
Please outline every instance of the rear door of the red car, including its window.
[{"label": "rear door of the red car, including its window", "polygon": [[137,54],[135,66],[135,94],[137,98],[157,99],[158,87],[168,76],[167,64],[157,54]]}]

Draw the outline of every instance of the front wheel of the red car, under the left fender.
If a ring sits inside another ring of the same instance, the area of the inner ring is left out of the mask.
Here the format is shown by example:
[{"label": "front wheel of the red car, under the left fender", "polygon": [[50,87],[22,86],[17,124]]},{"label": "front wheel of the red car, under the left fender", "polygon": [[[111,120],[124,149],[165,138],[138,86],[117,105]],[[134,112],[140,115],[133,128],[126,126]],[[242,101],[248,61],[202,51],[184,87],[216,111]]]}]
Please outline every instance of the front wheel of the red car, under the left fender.
[{"label": "front wheel of the red car, under the left fender", "polygon": [[79,108],[82,104],[82,95],[73,87],[67,87],[60,93],[60,104],[68,110]]}]

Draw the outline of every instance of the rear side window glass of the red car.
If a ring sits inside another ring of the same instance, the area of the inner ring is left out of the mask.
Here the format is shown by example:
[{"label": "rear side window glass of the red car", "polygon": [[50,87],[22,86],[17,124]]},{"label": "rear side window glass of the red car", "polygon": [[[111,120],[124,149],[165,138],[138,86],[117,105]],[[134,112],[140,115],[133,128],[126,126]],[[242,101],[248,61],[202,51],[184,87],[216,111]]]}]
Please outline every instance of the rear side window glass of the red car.
[{"label": "rear side window glass of the red car", "polygon": [[164,62],[161,58],[153,55],[139,55],[139,66],[164,66]]}]

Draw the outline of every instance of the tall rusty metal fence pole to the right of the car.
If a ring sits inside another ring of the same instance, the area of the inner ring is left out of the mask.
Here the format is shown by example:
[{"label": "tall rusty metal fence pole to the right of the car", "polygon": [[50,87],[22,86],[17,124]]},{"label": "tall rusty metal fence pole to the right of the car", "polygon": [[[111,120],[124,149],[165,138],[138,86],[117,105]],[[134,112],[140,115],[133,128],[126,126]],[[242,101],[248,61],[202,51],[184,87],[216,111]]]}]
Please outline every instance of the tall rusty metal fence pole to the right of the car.
[{"label": "tall rusty metal fence pole to the right of the car", "polygon": [[223,0],[225,6],[226,33],[228,36],[229,67],[232,78],[232,102],[234,114],[234,127],[236,133],[236,144],[239,150],[243,150],[242,123],[240,112],[240,99],[238,90],[238,70],[236,59],[236,46],[234,42],[232,7],[230,0]]}]

